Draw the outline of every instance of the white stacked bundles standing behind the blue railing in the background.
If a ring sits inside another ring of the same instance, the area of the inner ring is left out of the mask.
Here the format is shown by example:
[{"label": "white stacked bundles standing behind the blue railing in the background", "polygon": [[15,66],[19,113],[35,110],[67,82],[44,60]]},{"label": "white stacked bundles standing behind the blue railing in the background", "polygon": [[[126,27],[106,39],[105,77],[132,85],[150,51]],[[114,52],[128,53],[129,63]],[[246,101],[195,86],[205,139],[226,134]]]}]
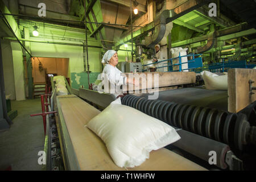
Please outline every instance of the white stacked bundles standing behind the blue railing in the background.
[{"label": "white stacked bundles standing behind the blue railing in the background", "polygon": [[[182,47],[176,47],[176,48],[171,48],[171,52],[172,52],[172,57],[179,57],[179,52],[180,52],[180,56],[185,56],[187,55],[187,49],[188,48],[182,48]],[[181,57],[181,69],[185,69],[183,72],[188,72],[188,57]],[[173,59],[172,60],[172,64],[179,64],[179,58]],[[179,65],[175,65],[172,66],[173,70],[179,70]]]}]

